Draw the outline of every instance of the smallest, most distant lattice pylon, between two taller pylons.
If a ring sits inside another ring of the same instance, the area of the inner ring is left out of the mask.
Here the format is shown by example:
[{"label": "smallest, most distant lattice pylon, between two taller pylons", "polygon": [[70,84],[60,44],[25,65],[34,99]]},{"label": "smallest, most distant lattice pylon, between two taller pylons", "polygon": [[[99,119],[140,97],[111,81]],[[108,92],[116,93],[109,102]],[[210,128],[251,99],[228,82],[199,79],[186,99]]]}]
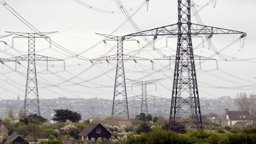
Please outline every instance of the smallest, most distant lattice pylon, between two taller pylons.
[{"label": "smallest, most distant lattice pylon, between two taller pylons", "polygon": [[[147,101],[147,85],[154,84],[153,82],[159,81],[160,79],[153,79],[150,81],[137,81],[133,79],[127,79],[129,81],[135,82],[135,84],[139,84],[142,87],[142,94],[141,95],[135,95],[134,97],[139,97],[141,99],[141,105],[140,105],[140,113],[148,114],[148,101]],[[153,95],[149,95],[149,97],[154,97]],[[151,98],[149,98],[151,99]]]}]

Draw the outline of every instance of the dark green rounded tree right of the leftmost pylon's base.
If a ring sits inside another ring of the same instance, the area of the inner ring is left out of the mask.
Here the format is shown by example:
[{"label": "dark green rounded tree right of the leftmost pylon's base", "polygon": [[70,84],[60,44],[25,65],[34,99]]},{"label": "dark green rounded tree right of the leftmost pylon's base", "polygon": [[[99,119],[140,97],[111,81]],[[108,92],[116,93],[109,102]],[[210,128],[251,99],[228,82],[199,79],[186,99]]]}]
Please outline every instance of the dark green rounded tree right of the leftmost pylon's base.
[{"label": "dark green rounded tree right of the leftmost pylon's base", "polygon": [[54,110],[55,115],[53,117],[53,120],[60,121],[60,122],[65,122],[66,120],[70,120],[72,122],[78,122],[81,120],[82,116],[78,111],[71,111],[68,110],[68,108],[65,109],[59,109],[59,110]]}]

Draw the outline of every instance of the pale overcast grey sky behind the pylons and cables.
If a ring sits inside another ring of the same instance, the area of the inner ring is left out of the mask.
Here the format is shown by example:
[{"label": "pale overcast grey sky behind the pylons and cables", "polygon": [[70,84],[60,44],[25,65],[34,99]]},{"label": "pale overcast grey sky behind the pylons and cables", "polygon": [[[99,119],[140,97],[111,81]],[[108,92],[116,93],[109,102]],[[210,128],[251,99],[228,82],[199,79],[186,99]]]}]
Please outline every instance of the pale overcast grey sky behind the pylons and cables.
[{"label": "pale overcast grey sky behind the pylons and cables", "polygon": [[[0,1],[2,2],[2,0]],[[87,5],[81,5],[79,1]],[[116,36],[123,36],[136,32],[129,23],[124,23],[126,18],[113,0],[79,1],[6,0],[5,2],[38,30],[57,31],[57,33],[50,35],[53,41],[73,53],[84,52],[81,56],[88,59],[116,53],[116,47],[114,47],[116,43],[108,41],[107,44],[104,44],[104,38],[95,33],[111,34],[114,32],[113,34]],[[145,1],[122,0],[121,2],[132,15]],[[215,8],[212,1],[195,0],[194,2],[196,8],[201,9],[199,15],[204,25],[247,33],[245,40],[239,40],[237,34],[217,35],[212,38],[216,49],[228,60],[214,56],[215,53],[206,42],[202,44],[201,39],[193,39],[195,55],[213,56],[218,62],[218,69],[215,61],[203,62],[201,69],[199,62],[196,62],[200,98],[218,98],[224,95],[236,97],[238,92],[255,93],[256,29],[254,27],[256,24],[256,1],[216,1]],[[203,7],[204,4],[208,5]],[[111,14],[111,11],[116,12]],[[5,31],[33,32],[3,5],[0,5],[0,15],[0,36],[7,34]],[[177,1],[150,0],[148,11],[146,5],[143,5],[132,18],[140,30],[175,24],[177,23]],[[192,23],[197,23],[196,18],[192,18]],[[121,24],[123,24],[122,27],[117,29]],[[15,39],[13,48],[11,47],[12,36],[1,40],[6,41],[8,46],[0,43],[0,57],[7,58],[27,53],[27,39]],[[145,44],[142,39],[137,38],[137,40],[140,41],[139,47]],[[244,47],[241,46],[243,41],[245,42]],[[175,55],[176,45],[177,39],[175,38],[168,38],[167,41],[166,37],[159,37],[155,42],[155,46],[167,56]],[[139,47],[135,41],[124,42],[124,53],[132,53]],[[87,60],[73,57],[55,46],[49,47],[49,43],[42,39],[36,39],[36,53],[65,59],[66,65],[64,71],[63,62],[49,62],[47,71],[46,62],[37,62],[40,98],[113,98],[116,62],[102,62],[92,65]],[[162,57],[151,47],[145,47],[136,56],[147,59]],[[148,86],[148,94],[171,98],[174,62],[171,62],[171,69],[169,69],[168,63],[168,61],[156,61],[152,69],[150,62],[125,62],[126,78],[140,81],[162,78],[161,81],[155,82],[155,85]],[[1,65],[0,99],[15,99],[18,95],[21,99],[24,98],[26,68],[27,62],[21,62],[17,69],[15,69],[15,64],[11,62]],[[127,81],[128,97],[139,95],[141,91],[138,86],[133,85],[132,88],[132,84],[132,82]]]}]

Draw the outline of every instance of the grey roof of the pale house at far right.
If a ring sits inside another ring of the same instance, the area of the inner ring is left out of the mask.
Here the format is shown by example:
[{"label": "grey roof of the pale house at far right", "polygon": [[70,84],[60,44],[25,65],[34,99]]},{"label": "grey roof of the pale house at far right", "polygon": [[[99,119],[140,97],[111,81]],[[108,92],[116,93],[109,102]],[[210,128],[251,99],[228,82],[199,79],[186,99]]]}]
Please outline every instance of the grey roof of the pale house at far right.
[{"label": "grey roof of the pale house at far right", "polygon": [[231,120],[252,120],[248,111],[228,111],[228,116]]}]

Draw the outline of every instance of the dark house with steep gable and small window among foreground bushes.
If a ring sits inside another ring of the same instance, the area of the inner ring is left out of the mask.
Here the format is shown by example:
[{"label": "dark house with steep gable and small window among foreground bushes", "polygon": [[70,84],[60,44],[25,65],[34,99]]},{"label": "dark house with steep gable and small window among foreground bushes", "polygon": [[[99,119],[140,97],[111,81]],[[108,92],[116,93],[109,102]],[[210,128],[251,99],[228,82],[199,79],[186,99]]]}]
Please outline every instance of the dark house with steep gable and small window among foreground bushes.
[{"label": "dark house with steep gable and small window among foreground bushes", "polygon": [[102,139],[110,139],[111,133],[100,123],[90,123],[78,136],[81,140],[91,140],[92,137],[94,139],[98,139],[99,137]]}]

